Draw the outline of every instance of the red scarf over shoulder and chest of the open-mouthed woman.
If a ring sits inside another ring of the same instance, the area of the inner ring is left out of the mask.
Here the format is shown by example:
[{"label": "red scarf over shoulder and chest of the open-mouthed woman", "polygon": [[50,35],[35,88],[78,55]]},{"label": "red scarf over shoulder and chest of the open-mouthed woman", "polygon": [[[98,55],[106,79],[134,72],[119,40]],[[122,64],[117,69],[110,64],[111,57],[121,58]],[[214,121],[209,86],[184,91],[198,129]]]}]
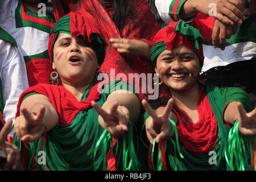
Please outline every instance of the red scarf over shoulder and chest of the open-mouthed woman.
[{"label": "red scarf over shoulder and chest of the open-mouthed woman", "polygon": [[[100,82],[98,83],[100,84]],[[19,97],[17,105],[18,112],[16,117],[19,116],[20,105],[22,99],[26,94],[36,92],[46,96],[59,115],[59,125],[68,126],[72,123],[76,114],[81,110],[88,110],[92,108],[92,101],[100,98],[100,93],[97,90],[98,84],[94,85],[88,94],[85,101],[77,101],[71,92],[60,85],[38,84],[26,89]]]}]

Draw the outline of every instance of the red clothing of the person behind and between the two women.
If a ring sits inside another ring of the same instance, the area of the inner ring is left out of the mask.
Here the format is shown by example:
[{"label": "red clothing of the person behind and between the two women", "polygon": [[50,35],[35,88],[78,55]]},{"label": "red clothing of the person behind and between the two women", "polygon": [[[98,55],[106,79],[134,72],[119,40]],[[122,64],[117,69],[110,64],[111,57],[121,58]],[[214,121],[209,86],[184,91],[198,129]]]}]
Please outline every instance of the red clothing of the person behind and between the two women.
[{"label": "red clothing of the person behind and between the two women", "polygon": [[[152,38],[155,36],[156,32],[159,31],[159,25],[156,22],[146,0],[129,0],[130,10],[123,17],[121,27],[118,27],[113,21],[113,15],[115,14],[113,1],[101,1],[103,6],[99,1],[100,0],[52,1],[53,8],[55,9],[55,18],[58,19],[60,16],[69,13],[69,11],[85,9],[100,23],[101,29],[105,32],[103,38],[106,41],[110,38],[137,39],[152,46]],[[131,77],[129,76],[129,73],[137,73],[137,75],[133,75],[134,78],[131,78],[131,81],[133,81],[133,85],[135,86],[135,89],[137,89],[139,97],[141,99],[147,99],[148,93],[144,87],[146,82],[140,81],[139,76],[147,73],[152,75],[154,73],[154,69],[145,57],[121,56],[117,52],[116,48],[108,45],[106,47],[104,63],[101,65],[100,71],[106,73],[110,80],[114,80],[114,77],[117,76],[118,73],[125,74],[127,80]],[[162,95],[163,94],[164,92],[162,92]]]}]

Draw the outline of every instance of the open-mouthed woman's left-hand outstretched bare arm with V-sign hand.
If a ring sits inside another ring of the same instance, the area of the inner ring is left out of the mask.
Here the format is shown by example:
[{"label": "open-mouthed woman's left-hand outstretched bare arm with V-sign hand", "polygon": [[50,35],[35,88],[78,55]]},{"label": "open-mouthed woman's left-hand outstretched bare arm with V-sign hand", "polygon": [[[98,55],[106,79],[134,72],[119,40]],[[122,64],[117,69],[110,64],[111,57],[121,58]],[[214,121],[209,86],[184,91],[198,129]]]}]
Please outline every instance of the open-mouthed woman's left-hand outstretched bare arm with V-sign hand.
[{"label": "open-mouthed woman's left-hand outstretched bare arm with V-sign hand", "polygon": [[27,142],[38,140],[44,131],[44,121],[46,130],[51,130],[59,121],[57,111],[46,96],[42,94],[28,96],[22,101],[20,115],[16,117],[14,125],[16,135],[20,140]]}]

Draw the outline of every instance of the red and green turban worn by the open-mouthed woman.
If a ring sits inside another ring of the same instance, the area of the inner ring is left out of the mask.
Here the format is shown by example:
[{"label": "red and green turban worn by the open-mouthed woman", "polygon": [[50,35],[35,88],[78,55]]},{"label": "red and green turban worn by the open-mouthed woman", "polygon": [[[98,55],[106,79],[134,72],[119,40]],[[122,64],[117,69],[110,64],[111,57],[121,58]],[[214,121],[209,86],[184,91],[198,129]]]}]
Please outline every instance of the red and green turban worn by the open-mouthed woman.
[{"label": "red and green turban worn by the open-mouthed woman", "polygon": [[80,36],[83,38],[88,44],[88,47],[96,52],[98,64],[103,63],[105,57],[105,42],[101,38],[102,32],[97,26],[97,20],[87,11],[71,12],[55,23],[48,42],[48,52],[51,61],[53,58],[53,46],[59,32],[72,35],[72,37]]}]

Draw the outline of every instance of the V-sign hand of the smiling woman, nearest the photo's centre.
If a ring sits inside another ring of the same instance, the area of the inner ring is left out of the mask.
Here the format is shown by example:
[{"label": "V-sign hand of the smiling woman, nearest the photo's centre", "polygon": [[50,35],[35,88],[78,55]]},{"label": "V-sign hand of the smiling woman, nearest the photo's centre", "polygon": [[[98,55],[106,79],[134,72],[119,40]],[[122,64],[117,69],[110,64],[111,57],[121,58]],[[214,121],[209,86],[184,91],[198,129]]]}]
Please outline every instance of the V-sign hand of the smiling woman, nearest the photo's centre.
[{"label": "V-sign hand of the smiling woman, nearest the photo's centre", "polygon": [[156,138],[156,143],[160,140],[165,139],[171,133],[172,125],[168,118],[170,116],[172,105],[174,100],[170,98],[162,114],[158,115],[152,110],[152,107],[148,104],[146,100],[142,100],[142,105],[144,106],[150,117],[146,120],[146,134],[148,140],[152,143],[153,138]]}]

